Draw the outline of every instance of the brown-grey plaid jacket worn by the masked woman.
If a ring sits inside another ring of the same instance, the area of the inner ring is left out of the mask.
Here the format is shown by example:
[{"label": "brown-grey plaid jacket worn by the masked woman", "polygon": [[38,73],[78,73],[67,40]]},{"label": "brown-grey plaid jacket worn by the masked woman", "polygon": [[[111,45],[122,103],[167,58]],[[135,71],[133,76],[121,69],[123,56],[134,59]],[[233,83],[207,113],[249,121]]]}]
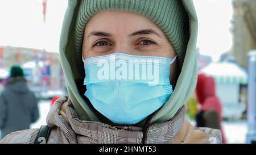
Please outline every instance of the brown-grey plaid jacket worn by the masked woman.
[{"label": "brown-grey plaid jacket worn by the masked woman", "polygon": [[[146,143],[221,143],[221,132],[217,129],[195,128],[185,118],[185,108],[170,121],[150,125]],[[80,120],[67,97],[58,99],[47,115],[51,128],[47,143],[142,143],[141,127],[116,128],[101,122]],[[0,143],[34,144],[39,128],[13,132]]]}]

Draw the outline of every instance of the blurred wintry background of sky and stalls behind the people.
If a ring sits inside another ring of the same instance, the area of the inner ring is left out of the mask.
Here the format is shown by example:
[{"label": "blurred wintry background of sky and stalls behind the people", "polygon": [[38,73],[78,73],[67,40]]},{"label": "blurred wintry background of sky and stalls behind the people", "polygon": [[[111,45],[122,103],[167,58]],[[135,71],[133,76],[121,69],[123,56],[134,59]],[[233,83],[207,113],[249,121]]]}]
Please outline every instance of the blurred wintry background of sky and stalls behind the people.
[{"label": "blurred wintry background of sky and stalls behind the people", "polygon": [[[199,19],[199,74],[214,79],[226,143],[254,143],[256,0],[193,2]],[[52,99],[67,95],[59,60],[67,4],[67,0],[0,0],[0,93],[10,67],[21,66],[39,99],[40,116],[31,128],[46,124]],[[202,105],[196,93],[186,103],[187,118],[195,125]]]}]

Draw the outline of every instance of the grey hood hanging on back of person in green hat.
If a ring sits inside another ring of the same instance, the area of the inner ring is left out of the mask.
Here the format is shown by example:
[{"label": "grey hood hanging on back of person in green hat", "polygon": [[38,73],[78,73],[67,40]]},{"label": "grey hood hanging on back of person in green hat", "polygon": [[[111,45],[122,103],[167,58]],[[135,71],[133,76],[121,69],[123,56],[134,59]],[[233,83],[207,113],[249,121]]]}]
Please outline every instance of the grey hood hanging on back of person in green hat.
[{"label": "grey hood hanging on back of person in green hat", "polygon": [[10,78],[6,85],[7,89],[14,91],[16,94],[26,94],[28,92],[27,81],[24,78]]}]

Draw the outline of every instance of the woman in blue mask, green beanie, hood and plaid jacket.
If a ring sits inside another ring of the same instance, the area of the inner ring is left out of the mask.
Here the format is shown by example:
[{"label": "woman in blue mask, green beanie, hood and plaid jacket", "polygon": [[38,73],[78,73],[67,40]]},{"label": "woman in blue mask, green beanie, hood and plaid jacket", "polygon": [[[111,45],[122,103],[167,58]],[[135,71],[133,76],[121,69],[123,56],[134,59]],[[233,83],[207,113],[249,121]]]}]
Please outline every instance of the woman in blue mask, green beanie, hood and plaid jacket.
[{"label": "woman in blue mask, green beanie, hood and plaid jacket", "polygon": [[[47,125],[0,143],[221,143],[218,129],[185,119],[197,81],[196,38],[191,0],[69,1],[60,39],[69,97],[56,100]],[[156,81],[142,79],[143,69],[126,79],[135,60],[159,65]]]}]

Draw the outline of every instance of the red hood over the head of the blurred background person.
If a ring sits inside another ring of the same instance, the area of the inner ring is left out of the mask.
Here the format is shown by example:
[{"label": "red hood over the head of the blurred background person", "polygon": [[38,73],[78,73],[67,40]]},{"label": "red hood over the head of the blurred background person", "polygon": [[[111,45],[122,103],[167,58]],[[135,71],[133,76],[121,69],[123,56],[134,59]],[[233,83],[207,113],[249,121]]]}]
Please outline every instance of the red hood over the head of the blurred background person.
[{"label": "red hood over the head of the blurred background person", "polygon": [[213,77],[199,74],[196,84],[196,97],[200,104],[204,104],[208,97],[216,96],[215,81]]}]

